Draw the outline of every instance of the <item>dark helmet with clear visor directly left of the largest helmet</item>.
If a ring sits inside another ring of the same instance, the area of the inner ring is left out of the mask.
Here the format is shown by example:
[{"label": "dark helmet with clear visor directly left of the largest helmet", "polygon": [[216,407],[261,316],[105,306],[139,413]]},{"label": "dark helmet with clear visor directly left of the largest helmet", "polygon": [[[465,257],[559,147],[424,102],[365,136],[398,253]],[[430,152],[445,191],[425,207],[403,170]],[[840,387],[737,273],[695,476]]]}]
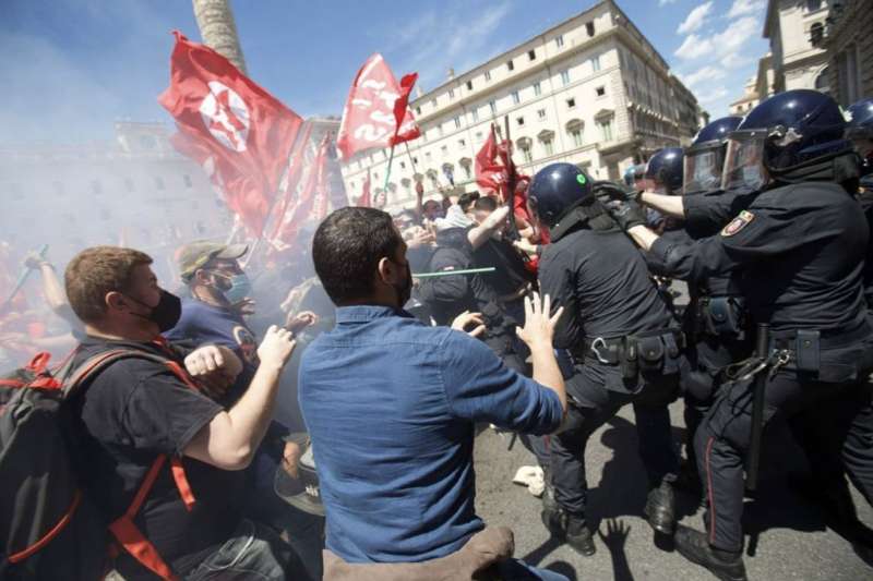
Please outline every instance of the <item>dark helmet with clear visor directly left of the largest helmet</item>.
[{"label": "dark helmet with clear visor directly left of the largest helmet", "polygon": [[742,121],[741,117],[722,117],[704,126],[685,149],[682,192],[710,192],[721,186],[721,169],[728,135]]}]

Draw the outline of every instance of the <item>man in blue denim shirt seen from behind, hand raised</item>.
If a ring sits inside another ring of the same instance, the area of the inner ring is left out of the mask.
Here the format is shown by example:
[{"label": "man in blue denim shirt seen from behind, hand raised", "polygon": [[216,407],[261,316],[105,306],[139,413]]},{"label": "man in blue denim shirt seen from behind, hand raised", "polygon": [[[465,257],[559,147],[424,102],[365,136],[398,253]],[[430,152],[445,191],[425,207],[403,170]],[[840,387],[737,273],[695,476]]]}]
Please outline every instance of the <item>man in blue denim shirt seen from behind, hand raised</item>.
[{"label": "man in blue denim shirt seen from behind, hand raised", "polygon": [[[562,422],[566,396],[551,344],[561,312],[549,316],[548,296],[526,302],[518,336],[531,351],[529,379],[481,341],[402,310],[412,279],[387,214],[334,211],[312,255],[338,307],[336,327],[309,347],[299,375],[327,549],[351,564],[454,554],[485,528],[474,506],[475,423],[548,434]],[[497,566],[513,579],[560,578],[521,561]]]}]

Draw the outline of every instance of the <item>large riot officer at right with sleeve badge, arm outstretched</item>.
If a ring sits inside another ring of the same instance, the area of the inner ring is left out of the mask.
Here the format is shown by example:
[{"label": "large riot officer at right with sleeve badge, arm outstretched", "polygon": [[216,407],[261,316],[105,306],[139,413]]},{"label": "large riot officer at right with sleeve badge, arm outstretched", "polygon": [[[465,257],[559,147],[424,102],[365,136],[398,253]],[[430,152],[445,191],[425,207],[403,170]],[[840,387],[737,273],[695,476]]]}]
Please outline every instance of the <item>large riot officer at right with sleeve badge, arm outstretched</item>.
[{"label": "large riot officer at right with sleeve badge, arm outstretched", "polygon": [[[627,204],[617,220],[677,275],[697,280],[741,269],[741,289],[769,343],[764,420],[806,416],[820,446],[844,455],[871,498],[870,467],[851,465],[847,433],[870,421],[862,389],[873,363],[873,327],[862,287],[868,227],[852,198],[858,165],[844,141],[837,104],[814,90],[778,94],[730,134],[722,190],[742,183],[761,193],[720,234],[671,244],[643,226]],[[743,378],[745,379],[745,378]],[[749,380],[722,386],[697,431],[695,451],[709,507],[707,531],[680,525],[677,549],[721,579],[745,579],[742,560],[743,458],[751,433]],[[821,448],[820,448],[821,449]]]}]

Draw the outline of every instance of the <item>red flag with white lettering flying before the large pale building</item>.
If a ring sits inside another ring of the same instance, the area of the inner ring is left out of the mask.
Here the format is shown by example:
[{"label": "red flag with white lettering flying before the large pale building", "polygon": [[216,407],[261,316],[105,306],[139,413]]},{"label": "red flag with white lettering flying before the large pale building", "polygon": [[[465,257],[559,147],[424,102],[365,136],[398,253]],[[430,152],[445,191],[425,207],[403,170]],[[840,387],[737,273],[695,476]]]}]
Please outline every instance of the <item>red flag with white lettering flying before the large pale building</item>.
[{"label": "red flag with white lettering flying before the large pale building", "polygon": [[[404,76],[406,84],[400,86],[382,55],[376,52],[367,59],[351,83],[343,110],[336,140],[343,159],[363,149],[415,140],[421,134],[407,106],[417,77],[417,74]],[[400,99],[405,100],[398,106]],[[395,106],[399,107],[396,112]],[[402,122],[400,112],[404,112]]]}]

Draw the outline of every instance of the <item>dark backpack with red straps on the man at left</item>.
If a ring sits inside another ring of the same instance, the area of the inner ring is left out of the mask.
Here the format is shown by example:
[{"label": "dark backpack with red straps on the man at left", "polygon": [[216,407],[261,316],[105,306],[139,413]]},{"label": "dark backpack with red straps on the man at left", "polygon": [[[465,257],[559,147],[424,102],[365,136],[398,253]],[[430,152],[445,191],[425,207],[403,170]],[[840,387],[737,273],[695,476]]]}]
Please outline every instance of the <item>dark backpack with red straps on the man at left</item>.
[{"label": "dark backpack with red straps on the man at left", "polygon": [[[112,363],[140,358],[166,365],[196,389],[179,363],[135,350],[112,350],[73,367],[71,353],[49,370],[48,353],[0,378],[0,579],[101,579],[120,549],[164,580],[177,577],[133,522],[167,464],[186,507],[194,497],[178,457],[158,456],[120,518],[106,522],[82,493],[82,453],[73,399]],[[81,427],[80,427],[81,429]]]}]

